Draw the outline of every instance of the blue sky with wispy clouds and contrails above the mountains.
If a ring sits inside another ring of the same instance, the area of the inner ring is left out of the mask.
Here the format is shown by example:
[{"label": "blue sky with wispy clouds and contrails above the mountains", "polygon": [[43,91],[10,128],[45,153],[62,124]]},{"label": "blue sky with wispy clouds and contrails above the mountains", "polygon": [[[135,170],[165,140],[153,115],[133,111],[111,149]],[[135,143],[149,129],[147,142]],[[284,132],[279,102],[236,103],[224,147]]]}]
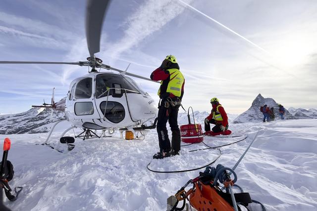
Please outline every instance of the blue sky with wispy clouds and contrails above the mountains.
[{"label": "blue sky with wispy clouds and contrails above the mountains", "polygon": [[[85,61],[85,0],[1,0],[0,60]],[[183,72],[183,105],[209,111],[212,97],[240,114],[261,93],[317,108],[316,0],[113,0],[97,57],[150,77],[166,55]],[[217,22],[216,22],[217,21]],[[71,65],[0,65],[0,113],[66,96],[87,74]],[[159,84],[136,80],[155,100]]]}]

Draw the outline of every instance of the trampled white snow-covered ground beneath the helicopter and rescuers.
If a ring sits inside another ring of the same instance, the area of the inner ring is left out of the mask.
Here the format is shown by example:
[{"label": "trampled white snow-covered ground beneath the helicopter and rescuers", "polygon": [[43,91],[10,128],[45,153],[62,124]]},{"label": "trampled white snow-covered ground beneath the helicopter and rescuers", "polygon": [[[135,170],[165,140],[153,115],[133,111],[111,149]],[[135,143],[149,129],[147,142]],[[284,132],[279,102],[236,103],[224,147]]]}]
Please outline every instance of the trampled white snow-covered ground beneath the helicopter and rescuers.
[{"label": "trampled white snow-covered ground beneath the helicopter and rescuers", "polygon": [[[317,119],[231,124],[230,129],[248,138],[222,147],[214,166],[232,168],[260,130],[236,169],[237,184],[267,211],[317,210]],[[57,142],[61,132],[54,132],[50,142]],[[145,140],[121,140],[118,132],[79,139],[74,150],[65,153],[35,145],[47,135],[0,135],[1,142],[11,139],[8,160],[15,175],[10,185],[24,187],[17,201],[4,200],[12,211],[163,211],[167,197],[199,170],[153,173],[147,164],[152,162],[150,168],[157,170],[181,170],[204,166],[218,156],[217,150],[189,152],[206,147],[199,143],[182,147],[181,156],[154,161],[159,150],[156,130]],[[235,140],[239,137],[205,137],[204,142],[218,146]]]}]

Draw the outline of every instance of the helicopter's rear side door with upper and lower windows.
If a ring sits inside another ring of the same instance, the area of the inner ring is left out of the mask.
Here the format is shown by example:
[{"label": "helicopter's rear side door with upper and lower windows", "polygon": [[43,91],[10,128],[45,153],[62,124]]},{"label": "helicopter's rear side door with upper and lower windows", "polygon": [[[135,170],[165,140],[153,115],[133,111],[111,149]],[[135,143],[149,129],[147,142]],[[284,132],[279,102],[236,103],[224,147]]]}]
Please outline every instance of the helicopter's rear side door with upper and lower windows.
[{"label": "helicopter's rear side door with upper and lower windows", "polygon": [[73,111],[74,119],[100,119],[96,109],[95,97],[93,94],[93,78],[84,78],[80,80],[73,93]]}]

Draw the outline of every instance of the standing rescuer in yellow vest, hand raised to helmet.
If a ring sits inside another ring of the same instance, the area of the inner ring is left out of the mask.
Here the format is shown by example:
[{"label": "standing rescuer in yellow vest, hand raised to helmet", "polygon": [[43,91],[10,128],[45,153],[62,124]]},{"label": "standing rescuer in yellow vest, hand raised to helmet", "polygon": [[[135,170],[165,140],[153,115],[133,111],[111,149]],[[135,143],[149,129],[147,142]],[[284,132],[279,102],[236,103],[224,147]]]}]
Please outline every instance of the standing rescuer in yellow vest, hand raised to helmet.
[{"label": "standing rescuer in yellow vest, hand raised to helmet", "polygon": [[[153,158],[162,159],[171,155],[179,155],[180,130],[177,124],[177,115],[184,95],[185,79],[179,71],[175,56],[166,56],[161,66],[151,74],[151,80],[160,81],[158,91],[160,103],[157,123],[159,152]],[[172,131],[172,145],[166,129],[167,121]]]}]

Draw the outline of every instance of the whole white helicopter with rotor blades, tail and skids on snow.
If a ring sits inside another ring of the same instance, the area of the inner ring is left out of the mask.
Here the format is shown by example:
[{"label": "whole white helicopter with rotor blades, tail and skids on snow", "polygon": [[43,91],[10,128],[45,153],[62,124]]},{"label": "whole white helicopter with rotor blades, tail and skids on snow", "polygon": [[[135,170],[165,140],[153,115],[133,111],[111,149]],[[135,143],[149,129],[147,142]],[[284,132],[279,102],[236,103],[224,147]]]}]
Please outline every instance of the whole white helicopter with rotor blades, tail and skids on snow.
[{"label": "whole white helicopter with rotor blades, tail and skids on snow", "polygon": [[[144,125],[153,121],[157,116],[154,99],[128,76],[148,81],[152,80],[128,73],[129,66],[125,71],[122,71],[103,64],[102,59],[95,57],[95,54],[100,51],[101,30],[109,3],[110,0],[87,0],[85,25],[90,55],[87,61],[0,61],[0,64],[67,64],[91,68],[87,75],[76,78],[71,82],[67,96],[61,101],[54,102],[53,88],[51,104],[44,102],[41,106],[33,106],[65,111],[66,120],[57,121],[53,125],[43,145],[48,144],[54,127],[62,121],[68,121],[72,125],[60,137],[60,143],[66,143],[69,151],[74,147],[74,145],[71,145],[74,138],[64,137],[64,135],[72,128],[82,128],[83,132],[75,135],[75,138],[79,137],[85,140],[93,137],[100,138],[102,135],[106,136],[106,130],[109,134],[112,134],[114,130],[119,129],[122,137],[123,131],[145,131],[156,127],[157,119],[152,122],[153,125],[151,126]],[[118,73],[99,72],[97,68]],[[101,130],[102,135],[98,135],[96,130]],[[145,136],[145,133],[143,135]]]}]

